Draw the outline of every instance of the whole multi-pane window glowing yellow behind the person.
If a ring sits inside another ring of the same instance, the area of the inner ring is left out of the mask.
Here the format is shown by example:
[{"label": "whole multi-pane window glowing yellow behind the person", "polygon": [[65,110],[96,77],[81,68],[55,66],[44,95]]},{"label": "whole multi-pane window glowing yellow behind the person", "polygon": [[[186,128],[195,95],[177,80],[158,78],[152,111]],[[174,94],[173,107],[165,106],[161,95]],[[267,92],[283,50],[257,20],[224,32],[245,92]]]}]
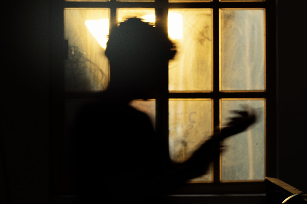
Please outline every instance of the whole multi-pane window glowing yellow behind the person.
[{"label": "whole multi-pane window glowing yellow behind the person", "polygon": [[[149,101],[136,98],[132,102],[149,113],[173,161],[187,159],[214,127],[225,124],[231,110],[253,108],[257,114],[257,123],[227,139],[223,145],[228,148],[213,161],[211,171],[191,180],[187,186],[193,190],[186,192],[264,191],[265,176],[274,173],[272,0],[67,0],[54,4],[62,16],[55,20],[57,26],[64,22],[56,36],[68,41],[68,55],[64,68],[53,70],[54,79],[59,79],[58,73],[65,76],[53,88],[53,102],[69,104],[68,125],[72,107],[107,88],[109,66],[103,54],[109,28],[127,17],[141,17],[167,30],[178,49],[165,65],[163,74],[168,77],[160,92]],[[64,112],[64,107],[56,108],[54,120]]]}]

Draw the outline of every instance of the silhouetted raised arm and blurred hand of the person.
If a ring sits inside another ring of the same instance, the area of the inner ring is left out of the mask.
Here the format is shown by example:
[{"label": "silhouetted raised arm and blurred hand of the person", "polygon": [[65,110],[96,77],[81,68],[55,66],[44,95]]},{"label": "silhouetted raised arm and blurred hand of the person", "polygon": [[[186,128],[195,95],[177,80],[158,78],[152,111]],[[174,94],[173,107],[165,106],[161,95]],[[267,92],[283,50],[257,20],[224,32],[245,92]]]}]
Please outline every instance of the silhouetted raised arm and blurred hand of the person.
[{"label": "silhouetted raised arm and blurred hand of the person", "polygon": [[177,188],[190,179],[204,175],[213,158],[220,155],[220,142],[227,137],[243,132],[256,120],[255,115],[247,111],[235,111],[235,113],[237,116],[231,118],[231,121],[220,132],[215,132],[187,161],[173,163],[168,172],[151,182],[156,183],[160,190],[168,191]]}]

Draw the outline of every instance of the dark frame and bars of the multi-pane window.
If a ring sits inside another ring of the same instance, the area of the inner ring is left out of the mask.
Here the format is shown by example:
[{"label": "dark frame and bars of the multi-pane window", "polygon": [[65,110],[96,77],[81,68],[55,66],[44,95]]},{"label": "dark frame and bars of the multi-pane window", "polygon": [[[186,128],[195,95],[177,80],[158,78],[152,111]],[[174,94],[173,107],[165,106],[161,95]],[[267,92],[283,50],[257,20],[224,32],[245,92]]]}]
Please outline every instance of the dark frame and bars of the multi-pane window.
[{"label": "dark frame and bars of the multi-pane window", "polygon": [[[211,8],[213,11],[213,87],[212,92],[204,91],[169,91],[168,64],[165,64],[165,81],[160,90],[153,95],[156,100],[156,131],[165,141],[168,149],[168,103],[169,98],[211,98],[213,100],[213,125],[220,124],[221,98],[265,98],[266,99],[266,169],[265,175],[276,175],[276,0],[241,1],[241,2],[168,2],[167,0],[128,2],[128,1],[51,1],[51,143],[50,143],[50,187],[52,195],[72,194],[72,187],[67,176],[68,170],[61,155],[67,153],[63,145],[65,138],[65,102],[67,100],[91,100],[97,92],[66,92],[64,86],[64,59],[67,58],[68,44],[64,36],[64,8],[110,8],[110,27],[117,24],[117,8],[154,8],[156,10],[156,26],[167,31],[167,15],[169,8]],[[264,8],[265,9],[265,91],[220,91],[220,8]],[[168,152],[166,152],[168,154]],[[213,164],[213,183],[187,183],[177,191],[178,194],[229,194],[229,193],[264,193],[265,180],[251,182],[220,182],[220,160]],[[69,176],[68,176],[69,177]]]}]

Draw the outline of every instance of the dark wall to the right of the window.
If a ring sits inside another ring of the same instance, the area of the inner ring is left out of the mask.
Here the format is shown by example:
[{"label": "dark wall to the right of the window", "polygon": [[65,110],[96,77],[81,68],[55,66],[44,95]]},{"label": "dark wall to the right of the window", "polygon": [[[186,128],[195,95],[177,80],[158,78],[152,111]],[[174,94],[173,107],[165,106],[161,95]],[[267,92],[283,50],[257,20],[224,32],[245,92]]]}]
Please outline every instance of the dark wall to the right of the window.
[{"label": "dark wall to the right of the window", "polygon": [[307,191],[306,8],[305,0],[278,0],[278,177],[301,191]]}]

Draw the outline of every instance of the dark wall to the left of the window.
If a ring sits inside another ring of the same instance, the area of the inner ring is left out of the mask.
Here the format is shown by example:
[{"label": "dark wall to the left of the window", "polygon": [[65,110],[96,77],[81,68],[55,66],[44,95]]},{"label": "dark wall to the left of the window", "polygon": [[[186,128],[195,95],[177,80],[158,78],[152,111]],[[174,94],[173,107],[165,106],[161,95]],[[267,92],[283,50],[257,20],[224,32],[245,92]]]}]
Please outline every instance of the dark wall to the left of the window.
[{"label": "dark wall to the left of the window", "polygon": [[11,203],[44,204],[49,200],[49,0],[7,1],[1,15],[0,203],[8,202],[8,191]]}]

